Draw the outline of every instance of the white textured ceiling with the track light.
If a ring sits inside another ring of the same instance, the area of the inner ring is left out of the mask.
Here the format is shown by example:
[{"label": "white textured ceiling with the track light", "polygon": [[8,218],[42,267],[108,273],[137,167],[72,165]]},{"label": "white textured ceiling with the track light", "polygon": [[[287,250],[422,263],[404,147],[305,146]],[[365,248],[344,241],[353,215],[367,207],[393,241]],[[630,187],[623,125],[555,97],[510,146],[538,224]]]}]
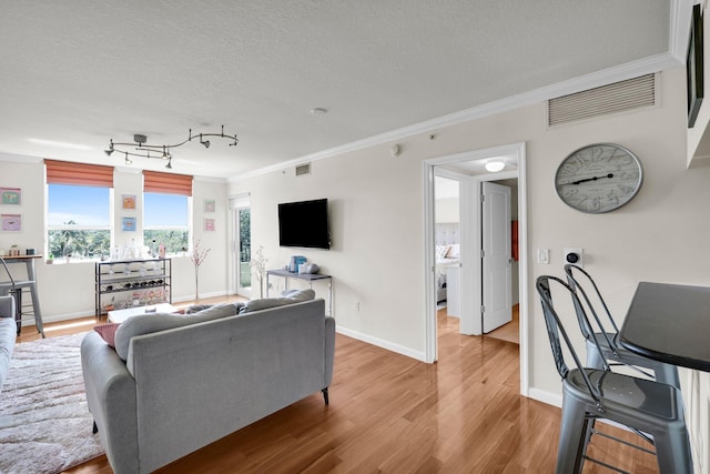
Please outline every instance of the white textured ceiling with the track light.
[{"label": "white textured ceiling with the track light", "polygon": [[670,57],[676,10],[676,0],[4,1],[0,152],[120,165],[103,153],[110,139],[174,143],[224,124],[239,147],[189,143],[173,171],[234,177]]}]

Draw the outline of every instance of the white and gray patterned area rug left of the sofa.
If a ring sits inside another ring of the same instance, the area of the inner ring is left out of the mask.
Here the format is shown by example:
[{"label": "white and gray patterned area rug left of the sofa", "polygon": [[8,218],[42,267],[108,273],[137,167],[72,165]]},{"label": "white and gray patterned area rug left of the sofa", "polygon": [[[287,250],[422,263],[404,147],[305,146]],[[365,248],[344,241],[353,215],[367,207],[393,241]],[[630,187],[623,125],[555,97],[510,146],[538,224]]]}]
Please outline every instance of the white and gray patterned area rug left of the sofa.
[{"label": "white and gray patterned area rug left of the sofa", "polygon": [[84,334],[16,344],[0,393],[0,473],[59,473],[103,454],[81,374]]}]

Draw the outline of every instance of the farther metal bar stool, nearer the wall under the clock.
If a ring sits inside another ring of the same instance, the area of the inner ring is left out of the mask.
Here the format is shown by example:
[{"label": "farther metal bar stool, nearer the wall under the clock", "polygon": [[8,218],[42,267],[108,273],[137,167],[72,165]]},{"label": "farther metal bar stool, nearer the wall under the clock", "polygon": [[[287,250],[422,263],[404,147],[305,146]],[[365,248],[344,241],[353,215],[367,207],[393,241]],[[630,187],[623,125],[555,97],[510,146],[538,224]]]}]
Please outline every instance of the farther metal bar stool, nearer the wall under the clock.
[{"label": "farther metal bar stool, nearer the wall under the clock", "polygon": [[[680,377],[678,376],[677,366],[635,354],[618,344],[619,327],[613,321],[607,303],[604,301],[604,297],[601,297],[599,288],[589,273],[580,266],[572,264],[565,265],[565,273],[567,274],[567,283],[579,296],[580,305],[575,305],[575,310],[577,311],[579,327],[587,341],[587,366],[604,369],[601,361],[605,360],[610,366],[628,366],[646,376],[655,379],[657,382],[667,383],[680,390]],[[584,284],[581,282],[584,282]],[[585,288],[587,290],[585,290]],[[588,321],[596,324],[596,329],[587,330],[585,327],[582,322],[585,320],[585,310],[582,310],[581,303],[586,304],[586,314],[592,316],[592,319]],[[606,315],[611,330],[605,326],[601,317],[599,317],[599,313]],[[597,336],[598,345],[591,340],[591,333]],[[600,351],[598,347],[600,347]]]}]

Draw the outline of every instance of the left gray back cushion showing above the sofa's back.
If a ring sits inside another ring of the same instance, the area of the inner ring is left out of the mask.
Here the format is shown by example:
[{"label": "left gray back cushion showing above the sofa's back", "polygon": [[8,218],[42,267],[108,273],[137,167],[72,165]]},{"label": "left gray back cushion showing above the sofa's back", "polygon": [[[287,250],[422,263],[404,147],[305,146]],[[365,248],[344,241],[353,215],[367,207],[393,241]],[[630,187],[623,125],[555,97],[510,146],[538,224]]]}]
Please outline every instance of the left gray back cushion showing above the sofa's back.
[{"label": "left gray back cushion showing above the sofa's back", "polygon": [[214,304],[194,314],[154,313],[129,317],[115,332],[115,352],[125,361],[133,336],[233,316],[241,305],[242,302],[223,303]]}]

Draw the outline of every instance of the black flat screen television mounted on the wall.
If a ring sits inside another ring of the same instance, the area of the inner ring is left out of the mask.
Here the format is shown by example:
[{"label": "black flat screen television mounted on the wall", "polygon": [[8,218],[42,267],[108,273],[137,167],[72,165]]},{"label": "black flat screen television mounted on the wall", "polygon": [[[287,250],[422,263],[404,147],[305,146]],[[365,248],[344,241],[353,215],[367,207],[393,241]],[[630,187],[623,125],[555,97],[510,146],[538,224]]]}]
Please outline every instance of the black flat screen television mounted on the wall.
[{"label": "black flat screen television mounted on the wall", "polygon": [[328,200],[278,204],[278,244],[329,250]]}]

